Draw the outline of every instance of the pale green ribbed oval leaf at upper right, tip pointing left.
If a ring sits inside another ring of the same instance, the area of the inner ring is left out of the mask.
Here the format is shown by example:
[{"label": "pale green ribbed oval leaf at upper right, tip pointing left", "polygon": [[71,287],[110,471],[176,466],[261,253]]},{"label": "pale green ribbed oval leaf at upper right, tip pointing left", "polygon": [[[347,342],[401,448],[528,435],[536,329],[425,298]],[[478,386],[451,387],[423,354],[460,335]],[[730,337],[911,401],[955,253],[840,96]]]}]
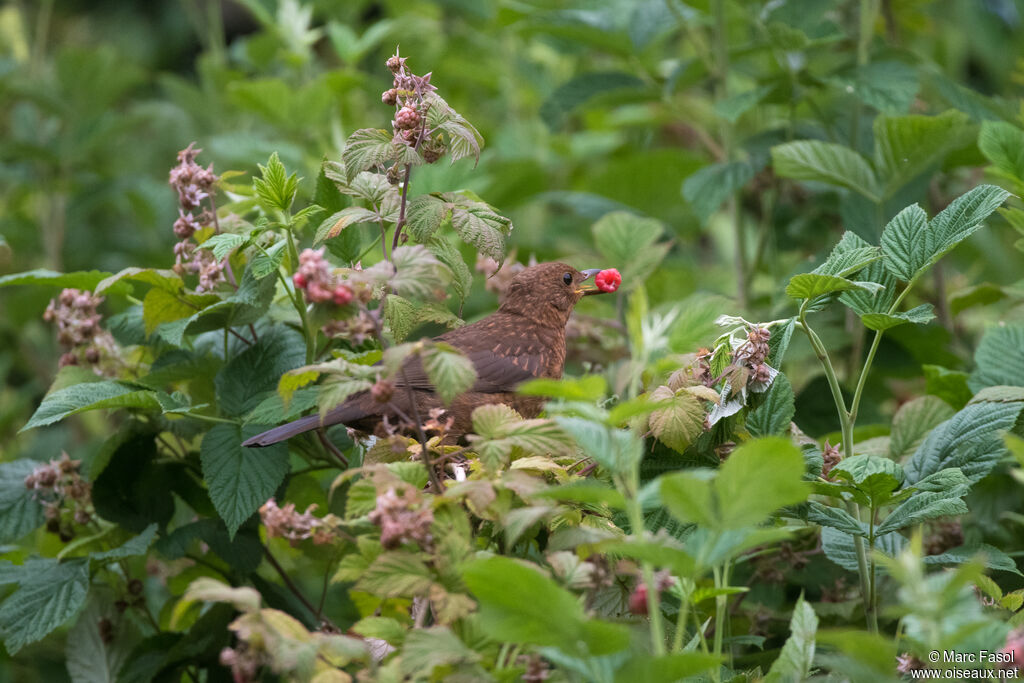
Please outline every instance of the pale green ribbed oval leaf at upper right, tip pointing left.
[{"label": "pale green ribbed oval leaf at upper right, tip pointing left", "polygon": [[798,140],[771,148],[775,173],[795,180],[816,180],[860,193],[878,201],[871,165],[853,150],[819,140]]}]

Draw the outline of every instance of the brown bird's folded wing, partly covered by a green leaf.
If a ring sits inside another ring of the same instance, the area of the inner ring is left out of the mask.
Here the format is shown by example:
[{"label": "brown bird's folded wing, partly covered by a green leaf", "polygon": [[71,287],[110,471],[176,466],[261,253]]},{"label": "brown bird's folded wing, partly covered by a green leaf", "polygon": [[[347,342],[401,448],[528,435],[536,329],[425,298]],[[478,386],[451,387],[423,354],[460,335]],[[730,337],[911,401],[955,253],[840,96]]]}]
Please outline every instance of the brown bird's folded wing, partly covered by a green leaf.
[{"label": "brown bird's folded wing, partly covered by a green leaf", "polygon": [[[544,349],[539,343],[460,350],[476,370],[476,382],[471,391],[483,393],[511,391],[522,382],[541,377],[546,365]],[[399,372],[395,377],[398,386],[410,386],[414,389],[434,388],[419,357],[407,360],[403,370],[404,375]]]}]

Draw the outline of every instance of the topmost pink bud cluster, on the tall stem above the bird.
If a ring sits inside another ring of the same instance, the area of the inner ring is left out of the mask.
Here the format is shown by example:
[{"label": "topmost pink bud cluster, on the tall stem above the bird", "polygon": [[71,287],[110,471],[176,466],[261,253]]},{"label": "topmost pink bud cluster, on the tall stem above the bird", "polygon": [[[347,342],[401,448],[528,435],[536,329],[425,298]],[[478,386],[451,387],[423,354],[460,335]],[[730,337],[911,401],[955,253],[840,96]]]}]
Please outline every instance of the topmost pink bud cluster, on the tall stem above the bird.
[{"label": "topmost pink bud cluster, on the tall stem above the bird", "polygon": [[[409,71],[406,67],[408,58],[399,56],[397,51],[388,57],[387,68],[394,74],[394,82],[391,88],[381,93],[381,101],[395,108],[391,122],[394,141],[420,150],[424,160],[433,164],[446,151],[439,136],[430,137],[432,131],[426,120],[426,98],[437,88],[430,84],[430,74],[417,76]],[[397,181],[396,176],[393,179]]]}]

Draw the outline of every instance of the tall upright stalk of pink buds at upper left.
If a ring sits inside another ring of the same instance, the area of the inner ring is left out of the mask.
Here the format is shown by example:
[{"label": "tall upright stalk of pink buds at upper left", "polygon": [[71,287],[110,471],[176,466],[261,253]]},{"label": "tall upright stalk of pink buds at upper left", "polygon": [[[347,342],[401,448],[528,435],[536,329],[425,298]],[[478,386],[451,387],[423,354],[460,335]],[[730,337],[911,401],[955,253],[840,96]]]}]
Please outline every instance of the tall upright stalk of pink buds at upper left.
[{"label": "tall upright stalk of pink buds at upper left", "polygon": [[193,241],[196,231],[208,227],[215,221],[212,210],[197,213],[203,200],[213,197],[213,185],[217,176],[213,164],[203,168],[196,163],[202,150],[195,148],[195,142],[178,153],[178,165],[171,169],[170,184],[178,195],[178,219],[174,221],[174,234],[178,243],[174,245],[174,271],[183,274],[194,272],[199,275],[197,292],[213,290],[224,278],[224,266],[208,250],[201,249]]}]

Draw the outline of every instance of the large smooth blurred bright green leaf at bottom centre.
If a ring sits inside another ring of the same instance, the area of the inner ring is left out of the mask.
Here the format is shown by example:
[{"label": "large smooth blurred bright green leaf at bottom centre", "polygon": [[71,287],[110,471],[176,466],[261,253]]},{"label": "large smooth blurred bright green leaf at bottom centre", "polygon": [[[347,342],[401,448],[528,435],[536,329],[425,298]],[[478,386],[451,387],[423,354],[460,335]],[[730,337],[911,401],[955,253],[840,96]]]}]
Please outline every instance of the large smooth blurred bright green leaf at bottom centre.
[{"label": "large smooth blurred bright green leaf at bottom centre", "polygon": [[463,581],[479,601],[483,631],[493,639],[599,655],[629,645],[629,630],[589,620],[579,600],[541,571],[507,557],[475,559]]}]

